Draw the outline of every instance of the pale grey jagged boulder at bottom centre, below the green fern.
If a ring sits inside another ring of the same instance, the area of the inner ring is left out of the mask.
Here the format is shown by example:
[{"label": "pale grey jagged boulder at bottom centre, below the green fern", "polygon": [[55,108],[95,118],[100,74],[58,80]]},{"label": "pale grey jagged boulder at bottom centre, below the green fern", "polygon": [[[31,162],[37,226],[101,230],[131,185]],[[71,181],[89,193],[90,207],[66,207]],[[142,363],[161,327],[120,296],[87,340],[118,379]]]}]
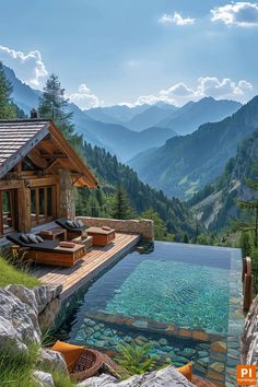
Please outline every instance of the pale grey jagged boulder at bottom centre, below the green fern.
[{"label": "pale grey jagged boulder at bottom centre, below the green fern", "polygon": [[194,385],[185,378],[175,367],[168,366],[160,371],[153,371],[144,375],[136,375],[129,379],[118,382],[113,376],[101,375],[92,377],[78,387],[192,387]]}]

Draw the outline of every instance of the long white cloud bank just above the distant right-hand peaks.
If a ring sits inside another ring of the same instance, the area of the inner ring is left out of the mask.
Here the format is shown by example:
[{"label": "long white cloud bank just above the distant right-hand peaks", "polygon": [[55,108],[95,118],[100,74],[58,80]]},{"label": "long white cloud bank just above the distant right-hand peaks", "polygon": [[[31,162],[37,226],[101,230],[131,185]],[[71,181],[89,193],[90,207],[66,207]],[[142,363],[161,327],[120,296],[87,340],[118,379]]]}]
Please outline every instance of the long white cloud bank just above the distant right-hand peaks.
[{"label": "long white cloud bank just above the distant right-hand peaks", "polygon": [[181,106],[189,101],[198,101],[206,96],[246,102],[253,96],[253,85],[246,80],[235,82],[227,78],[219,80],[215,77],[201,77],[197,80],[195,87],[179,82],[168,89],[161,90],[157,95],[140,96],[134,103],[127,105],[154,105],[157,102],[165,102]]}]

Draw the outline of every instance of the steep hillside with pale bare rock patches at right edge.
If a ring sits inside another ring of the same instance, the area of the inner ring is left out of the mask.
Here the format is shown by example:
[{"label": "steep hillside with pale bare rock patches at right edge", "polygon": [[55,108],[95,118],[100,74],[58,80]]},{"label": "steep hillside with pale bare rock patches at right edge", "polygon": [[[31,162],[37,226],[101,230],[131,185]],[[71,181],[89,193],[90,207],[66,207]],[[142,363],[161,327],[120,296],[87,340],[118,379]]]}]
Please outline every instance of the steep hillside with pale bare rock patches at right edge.
[{"label": "steep hillside with pale bare rock patches at right edge", "polygon": [[232,220],[242,218],[237,200],[255,197],[256,191],[245,181],[256,177],[257,161],[258,130],[242,141],[223,174],[189,200],[192,212],[208,228],[220,231],[231,226]]}]

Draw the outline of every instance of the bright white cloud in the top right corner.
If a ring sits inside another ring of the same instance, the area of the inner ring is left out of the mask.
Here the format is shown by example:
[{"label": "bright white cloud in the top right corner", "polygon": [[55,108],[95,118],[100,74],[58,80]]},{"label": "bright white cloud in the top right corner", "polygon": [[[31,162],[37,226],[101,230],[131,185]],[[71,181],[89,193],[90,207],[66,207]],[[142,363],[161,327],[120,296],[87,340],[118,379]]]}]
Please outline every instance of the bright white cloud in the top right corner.
[{"label": "bright white cloud in the top right corner", "polygon": [[258,26],[258,3],[239,1],[223,7],[216,7],[211,10],[211,21],[220,21],[228,26]]}]

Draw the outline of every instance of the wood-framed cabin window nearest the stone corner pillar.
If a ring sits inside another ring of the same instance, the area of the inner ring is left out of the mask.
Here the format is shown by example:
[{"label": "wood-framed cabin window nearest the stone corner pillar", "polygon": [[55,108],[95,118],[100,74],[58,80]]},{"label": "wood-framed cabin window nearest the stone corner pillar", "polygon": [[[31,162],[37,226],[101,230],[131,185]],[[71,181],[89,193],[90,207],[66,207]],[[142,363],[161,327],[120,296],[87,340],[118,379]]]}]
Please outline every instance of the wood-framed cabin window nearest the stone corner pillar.
[{"label": "wood-framed cabin window nearest the stone corner pillar", "polygon": [[31,189],[32,225],[52,221],[55,218],[56,187],[37,187]]}]

